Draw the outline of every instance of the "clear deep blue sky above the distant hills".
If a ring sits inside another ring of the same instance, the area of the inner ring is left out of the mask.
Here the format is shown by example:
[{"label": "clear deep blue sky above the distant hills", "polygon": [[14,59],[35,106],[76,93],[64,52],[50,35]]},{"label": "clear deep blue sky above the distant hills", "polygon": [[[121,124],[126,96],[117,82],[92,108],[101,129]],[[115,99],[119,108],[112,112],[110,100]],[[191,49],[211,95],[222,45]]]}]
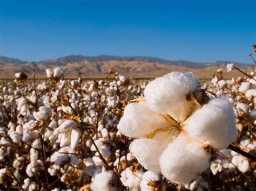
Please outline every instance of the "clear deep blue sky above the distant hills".
[{"label": "clear deep blue sky above the distant hills", "polygon": [[0,0],[0,55],[251,63],[255,0]]}]

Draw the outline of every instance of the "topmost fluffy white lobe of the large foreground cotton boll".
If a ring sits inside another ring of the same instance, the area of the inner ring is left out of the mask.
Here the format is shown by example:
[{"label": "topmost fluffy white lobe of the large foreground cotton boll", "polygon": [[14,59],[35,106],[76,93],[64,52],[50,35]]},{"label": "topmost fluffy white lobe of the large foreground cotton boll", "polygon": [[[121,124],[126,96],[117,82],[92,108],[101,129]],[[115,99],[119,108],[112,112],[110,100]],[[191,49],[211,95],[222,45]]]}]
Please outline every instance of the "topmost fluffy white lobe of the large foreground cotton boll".
[{"label": "topmost fluffy white lobe of the large foreground cotton boll", "polygon": [[193,73],[171,72],[147,84],[144,95],[150,109],[183,122],[194,105],[186,101],[186,95],[200,89],[199,86]]}]

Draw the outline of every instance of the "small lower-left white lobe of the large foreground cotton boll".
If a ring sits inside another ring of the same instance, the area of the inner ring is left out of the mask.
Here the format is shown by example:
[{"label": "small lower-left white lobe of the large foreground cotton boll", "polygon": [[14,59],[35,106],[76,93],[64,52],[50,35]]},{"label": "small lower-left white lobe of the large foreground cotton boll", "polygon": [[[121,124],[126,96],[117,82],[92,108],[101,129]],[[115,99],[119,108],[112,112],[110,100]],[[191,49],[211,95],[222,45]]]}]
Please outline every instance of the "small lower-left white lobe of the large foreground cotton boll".
[{"label": "small lower-left white lobe of the large foreground cotton boll", "polygon": [[158,160],[163,150],[160,149],[160,144],[157,140],[135,139],[130,144],[130,152],[145,169],[160,172]]}]

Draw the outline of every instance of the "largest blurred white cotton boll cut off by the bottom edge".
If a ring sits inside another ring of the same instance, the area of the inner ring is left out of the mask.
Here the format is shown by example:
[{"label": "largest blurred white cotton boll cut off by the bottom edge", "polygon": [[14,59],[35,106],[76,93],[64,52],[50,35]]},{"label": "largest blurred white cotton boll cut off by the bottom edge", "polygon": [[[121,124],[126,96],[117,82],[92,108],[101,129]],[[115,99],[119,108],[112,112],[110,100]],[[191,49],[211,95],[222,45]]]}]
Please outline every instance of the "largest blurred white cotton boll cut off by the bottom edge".
[{"label": "largest blurred white cotton boll cut off by the bottom edge", "polygon": [[97,174],[90,184],[92,190],[117,190],[116,187],[112,187],[111,182],[113,179],[112,172],[102,172]]}]

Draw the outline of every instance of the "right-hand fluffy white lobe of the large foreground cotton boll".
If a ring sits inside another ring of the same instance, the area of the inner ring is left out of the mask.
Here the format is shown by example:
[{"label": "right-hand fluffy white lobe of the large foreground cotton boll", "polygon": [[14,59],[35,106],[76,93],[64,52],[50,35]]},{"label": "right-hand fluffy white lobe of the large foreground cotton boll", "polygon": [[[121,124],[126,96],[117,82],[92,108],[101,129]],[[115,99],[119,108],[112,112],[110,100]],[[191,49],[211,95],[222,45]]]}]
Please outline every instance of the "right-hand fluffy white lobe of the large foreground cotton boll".
[{"label": "right-hand fluffy white lobe of the large foreground cotton boll", "polygon": [[225,97],[211,98],[186,122],[188,134],[214,148],[227,148],[237,138],[235,115],[231,103]]}]

